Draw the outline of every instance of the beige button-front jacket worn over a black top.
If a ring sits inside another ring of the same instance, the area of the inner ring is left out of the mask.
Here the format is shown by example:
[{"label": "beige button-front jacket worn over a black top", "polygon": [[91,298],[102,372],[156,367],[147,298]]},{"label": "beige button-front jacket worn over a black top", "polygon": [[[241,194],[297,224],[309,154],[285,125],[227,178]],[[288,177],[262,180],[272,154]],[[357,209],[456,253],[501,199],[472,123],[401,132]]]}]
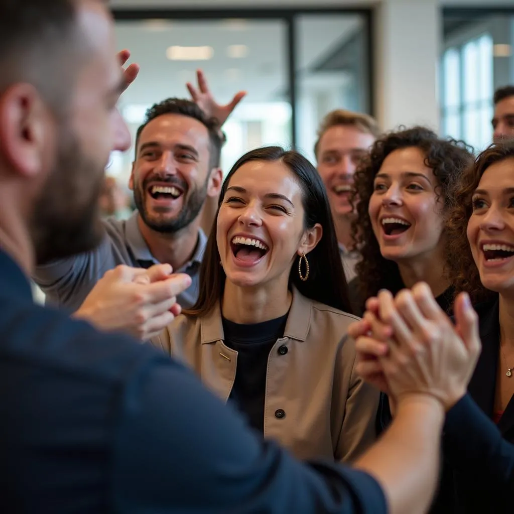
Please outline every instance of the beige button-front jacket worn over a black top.
[{"label": "beige button-front jacket worn over a black top", "polygon": [[[351,461],[375,440],[379,393],[355,374],[354,341],[347,336],[356,319],[293,291],[284,337],[268,358],[264,436],[298,458]],[[227,401],[237,352],[223,338],[218,304],[204,318],[177,317],[152,343]]]}]

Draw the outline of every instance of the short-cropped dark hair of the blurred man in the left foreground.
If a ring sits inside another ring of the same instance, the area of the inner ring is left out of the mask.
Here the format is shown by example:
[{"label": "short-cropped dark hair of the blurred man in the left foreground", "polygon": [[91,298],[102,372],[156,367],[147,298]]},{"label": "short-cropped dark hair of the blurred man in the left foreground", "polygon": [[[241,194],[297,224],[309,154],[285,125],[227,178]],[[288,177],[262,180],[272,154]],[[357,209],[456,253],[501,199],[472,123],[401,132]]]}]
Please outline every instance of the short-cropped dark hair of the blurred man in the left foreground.
[{"label": "short-cropped dark hair of the blurred man in the left foreground", "polygon": [[29,81],[54,111],[64,109],[80,66],[76,6],[76,0],[0,2],[0,90]]}]

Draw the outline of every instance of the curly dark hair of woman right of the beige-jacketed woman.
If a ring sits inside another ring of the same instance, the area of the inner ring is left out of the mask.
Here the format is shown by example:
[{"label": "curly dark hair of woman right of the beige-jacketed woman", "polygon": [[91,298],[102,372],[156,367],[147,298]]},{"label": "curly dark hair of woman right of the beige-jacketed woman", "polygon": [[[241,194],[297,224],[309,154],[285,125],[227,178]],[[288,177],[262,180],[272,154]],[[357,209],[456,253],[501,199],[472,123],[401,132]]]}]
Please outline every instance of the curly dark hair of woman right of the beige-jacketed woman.
[{"label": "curly dark hair of woman right of the beige-jacketed woman", "polygon": [[[375,176],[383,161],[395,150],[414,146],[425,154],[425,164],[437,178],[436,194],[443,199],[444,214],[452,203],[452,184],[472,161],[471,149],[463,141],[440,139],[429,128],[400,127],[400,130],[384,134],[373,144],[370,153],[362,161],[355,174],[353,202],[357,203],[357,217],[352,224],[352,235],[362,255],[357,264],[358,293],[361,302],[376,296],[380,289],[393,293],[402,284],[398,265],[385,259],[373,232],[368,206],[374,190]],[[359,305],[360,308],[363,305]]]}]

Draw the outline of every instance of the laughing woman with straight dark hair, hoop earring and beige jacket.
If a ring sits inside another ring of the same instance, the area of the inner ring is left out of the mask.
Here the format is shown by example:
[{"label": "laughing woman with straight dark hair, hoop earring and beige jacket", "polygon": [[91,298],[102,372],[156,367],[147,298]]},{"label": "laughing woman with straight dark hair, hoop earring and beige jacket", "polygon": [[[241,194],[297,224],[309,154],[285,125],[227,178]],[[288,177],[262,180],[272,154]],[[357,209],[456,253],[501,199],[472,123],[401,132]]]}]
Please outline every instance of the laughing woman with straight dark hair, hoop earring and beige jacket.
[{"label": "laughing woman with straight dark hair, hoop earring and beige jacket", "polygon": [[198,301],[154,344],[297,457],[353,460],[375,439],[378,392],[355,374],[348,311],[323,183],[270,146],[228,174]]}]

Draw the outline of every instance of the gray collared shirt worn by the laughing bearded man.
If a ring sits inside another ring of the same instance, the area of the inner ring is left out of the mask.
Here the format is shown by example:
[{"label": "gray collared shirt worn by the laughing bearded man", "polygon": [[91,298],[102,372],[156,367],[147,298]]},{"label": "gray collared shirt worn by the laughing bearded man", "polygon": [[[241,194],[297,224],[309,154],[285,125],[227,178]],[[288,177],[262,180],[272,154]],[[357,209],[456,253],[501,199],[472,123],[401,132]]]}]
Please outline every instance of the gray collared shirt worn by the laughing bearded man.
[{"label": "gray collared shirt worn by the laughing bearded man", "polygon": [[[103,220],[105,235],[93,251],[54,261],[35,269],[33,279],[46,295],[47,304],[77,310],[105,272],[119,264],[149,268],[158,264],[144,242],[137,224],[138,212],[126,219]],[[177,273],[187,273],[191,286],[177,297],[183,308],[191,307],[198,298],[198,276],[207,237],[200,229],[193,256]]]}]

